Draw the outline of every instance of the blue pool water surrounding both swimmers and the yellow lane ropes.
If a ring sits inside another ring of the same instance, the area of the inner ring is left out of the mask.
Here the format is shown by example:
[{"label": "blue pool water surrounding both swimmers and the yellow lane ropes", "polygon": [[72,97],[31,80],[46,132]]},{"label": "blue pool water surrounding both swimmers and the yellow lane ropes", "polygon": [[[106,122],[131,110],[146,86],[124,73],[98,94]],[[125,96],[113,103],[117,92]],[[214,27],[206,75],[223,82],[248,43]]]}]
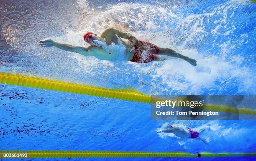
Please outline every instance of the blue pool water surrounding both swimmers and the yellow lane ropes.
[{"label": "blue pool water surrounding both swimmers and the yellow lane ropes", "polygon": [[[249,0],[3,0],[0,71],[146,94],[256,94],[255,11]],[[38,45],[40,40],[53,39],[87,46],[84,32],[100,34],[109,26],[177,50],[198,65],[180,59],[108,62]],[[157,134],[168,121],[150,116],[150,104],[0,84],[0,149],[256,151],[254,120],[169,121],[186,127],[210,126],[204,134],[209,146],[197,139]],[[223,158],[207,160],[218,159]]]}]

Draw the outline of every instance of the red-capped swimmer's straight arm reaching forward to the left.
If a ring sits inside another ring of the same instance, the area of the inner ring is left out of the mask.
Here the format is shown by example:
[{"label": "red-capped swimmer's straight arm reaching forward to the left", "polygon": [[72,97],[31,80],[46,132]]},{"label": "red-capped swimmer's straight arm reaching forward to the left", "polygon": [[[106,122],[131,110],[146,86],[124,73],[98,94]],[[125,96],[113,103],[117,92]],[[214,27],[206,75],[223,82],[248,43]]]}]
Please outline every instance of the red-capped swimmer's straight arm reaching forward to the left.
[{"label": "red-capped swimmer's straight arm reaching forward to the left", "polygon": [[76,52],[85,56],[95,56],[95,53],[97,53],[98,47],[76,47],[68,44],[61,44],[59,42],[54,42],[53,40],[45,40],[40,41],[39,45],[41,47],[57,47],[61,50],[69,51],[69,52]]}]

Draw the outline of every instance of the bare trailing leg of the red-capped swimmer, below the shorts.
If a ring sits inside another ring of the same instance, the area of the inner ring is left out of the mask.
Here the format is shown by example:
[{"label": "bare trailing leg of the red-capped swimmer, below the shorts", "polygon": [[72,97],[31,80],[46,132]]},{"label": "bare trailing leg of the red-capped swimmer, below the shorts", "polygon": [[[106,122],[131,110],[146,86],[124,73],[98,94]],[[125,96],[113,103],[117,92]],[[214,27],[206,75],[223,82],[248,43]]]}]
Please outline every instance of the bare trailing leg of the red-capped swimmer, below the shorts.
[{"label": "bare trailing leg of the red-capped swimmer, below the shorts", "polygon": [[172,49],[169,49],[169,48],[161,48],[159,47],[159,55],[167,55],[167,56],[170,56],[170,57],[177,57],[177,58],[181,58],[187,62],[189,62],[191,65],[193,66],[197,66],[197,61],[195,59],[191,59],[189,57],[186,57],[182,54],[179,54],[178,52],[175,52],[174,50]]}]

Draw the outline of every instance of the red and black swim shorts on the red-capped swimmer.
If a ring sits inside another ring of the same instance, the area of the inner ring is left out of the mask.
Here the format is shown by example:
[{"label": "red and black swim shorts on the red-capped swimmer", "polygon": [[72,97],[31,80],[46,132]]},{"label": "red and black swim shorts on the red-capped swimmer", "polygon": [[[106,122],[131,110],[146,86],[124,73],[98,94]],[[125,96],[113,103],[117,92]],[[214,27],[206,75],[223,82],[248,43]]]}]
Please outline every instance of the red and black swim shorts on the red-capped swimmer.
[{"label": "red and black swim shorts on the red-capped swimmer", "polygon": [[135,51],[134,51],[133,59],[131,59],[130,61],[131,62],[137,62],[137,63],[152,62],[154,60],[154,54],[159,53],[159,47],[150,43],[150,42],[145,42],[145,41],[141,41],[141,40],[139,40],[139,42],[141,42],[141,44],[144,45],[144,46],[151,47],[152,49],[155,50],[155,52],[154,53],[147,53],[146,55],[143,55],[140,48],[137,45],[134,45]]}]

